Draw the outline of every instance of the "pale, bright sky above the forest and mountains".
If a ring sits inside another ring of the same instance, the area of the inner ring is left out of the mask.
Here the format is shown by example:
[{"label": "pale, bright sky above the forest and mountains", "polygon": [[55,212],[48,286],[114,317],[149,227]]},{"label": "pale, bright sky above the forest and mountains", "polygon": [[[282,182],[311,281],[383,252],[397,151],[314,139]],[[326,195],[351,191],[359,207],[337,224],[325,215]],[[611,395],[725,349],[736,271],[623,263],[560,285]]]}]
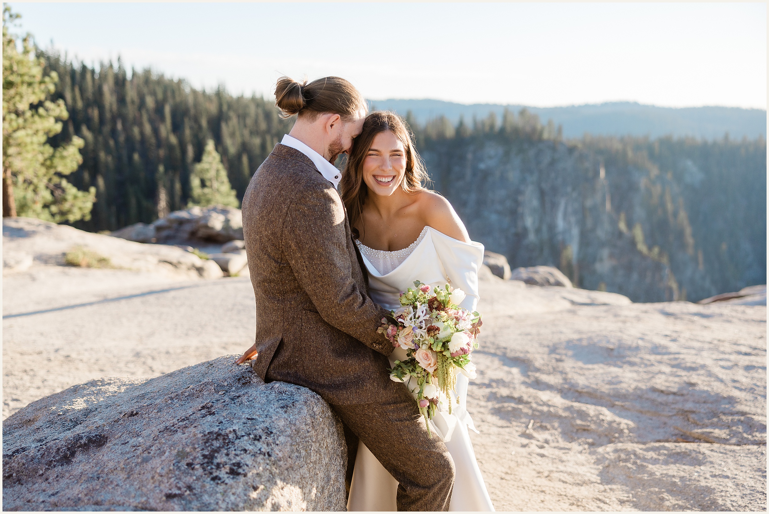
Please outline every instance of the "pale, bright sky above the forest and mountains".
[{"label": "pale, bright sky above the forest and mountains", "polygon": [[235,94],[340,75],[374,99],[767,105],[764,3],[11,6],[43,47]]}]

